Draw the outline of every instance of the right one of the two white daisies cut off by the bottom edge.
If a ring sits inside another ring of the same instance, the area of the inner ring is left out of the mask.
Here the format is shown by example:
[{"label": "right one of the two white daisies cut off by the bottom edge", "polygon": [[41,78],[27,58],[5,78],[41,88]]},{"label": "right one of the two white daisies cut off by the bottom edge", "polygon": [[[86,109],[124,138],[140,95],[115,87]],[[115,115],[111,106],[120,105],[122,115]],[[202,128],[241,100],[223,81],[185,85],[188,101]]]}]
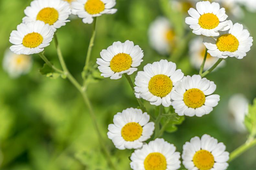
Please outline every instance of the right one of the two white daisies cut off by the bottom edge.
[{"label": "right one of the two white daisies cut off by the bottom edge", "polygon": [[191,138],[183,145],[183,165],[188,170],[225,170],[228,168],[229,153],[226,146],[210,135]]}]

